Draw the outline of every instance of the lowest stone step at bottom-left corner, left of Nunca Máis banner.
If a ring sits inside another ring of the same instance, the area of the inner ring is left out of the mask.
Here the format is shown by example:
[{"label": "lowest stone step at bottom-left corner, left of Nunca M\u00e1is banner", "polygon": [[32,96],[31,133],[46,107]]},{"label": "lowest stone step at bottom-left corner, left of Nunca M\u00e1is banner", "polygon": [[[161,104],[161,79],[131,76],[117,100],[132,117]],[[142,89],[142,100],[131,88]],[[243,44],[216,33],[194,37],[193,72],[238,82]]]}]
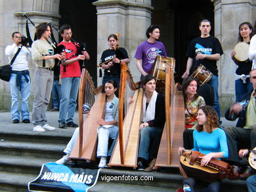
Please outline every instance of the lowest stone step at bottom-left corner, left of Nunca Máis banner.
[{"label": "lowest stone step at bottom-left corner, left of Nunca M\u00e1is banner", "polygon": [[19,174],[0,171],[0,188],[2,191],[27,192],[28,182],[35,180],[32,174]]}]

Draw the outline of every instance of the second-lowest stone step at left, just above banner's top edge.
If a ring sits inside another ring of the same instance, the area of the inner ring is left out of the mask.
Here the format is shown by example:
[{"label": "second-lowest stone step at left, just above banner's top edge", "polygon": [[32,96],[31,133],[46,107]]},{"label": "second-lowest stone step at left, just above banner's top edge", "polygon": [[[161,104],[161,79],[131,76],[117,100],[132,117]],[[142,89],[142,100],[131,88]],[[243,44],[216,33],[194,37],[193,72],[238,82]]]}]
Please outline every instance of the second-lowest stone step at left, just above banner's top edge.
[{"label": "second-lowest stone step at left, just above banner's top edge", "polygon": [[39,174],[42,164],[55,162],[56,159],[35,157],[17,157],[14,155],[1,155],[0,171],[16,172],[22,174]]}]

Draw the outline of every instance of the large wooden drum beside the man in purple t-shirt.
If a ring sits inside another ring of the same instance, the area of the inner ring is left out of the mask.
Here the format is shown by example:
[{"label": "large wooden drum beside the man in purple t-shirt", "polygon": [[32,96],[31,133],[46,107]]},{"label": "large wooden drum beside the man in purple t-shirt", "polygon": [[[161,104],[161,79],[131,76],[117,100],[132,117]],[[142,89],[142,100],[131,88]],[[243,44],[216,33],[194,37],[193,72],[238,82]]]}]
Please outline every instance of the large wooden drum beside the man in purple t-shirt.
[{"label": "large wooden drum beside the man in purple t-shirt", "polygon": [[153,65],[152,76],[156,79],[157,88],[165,88],[165,67],[166,65],[171,66],[175,69],[175,58],[165,57],[165,56],[156,56],[155,62]]}]

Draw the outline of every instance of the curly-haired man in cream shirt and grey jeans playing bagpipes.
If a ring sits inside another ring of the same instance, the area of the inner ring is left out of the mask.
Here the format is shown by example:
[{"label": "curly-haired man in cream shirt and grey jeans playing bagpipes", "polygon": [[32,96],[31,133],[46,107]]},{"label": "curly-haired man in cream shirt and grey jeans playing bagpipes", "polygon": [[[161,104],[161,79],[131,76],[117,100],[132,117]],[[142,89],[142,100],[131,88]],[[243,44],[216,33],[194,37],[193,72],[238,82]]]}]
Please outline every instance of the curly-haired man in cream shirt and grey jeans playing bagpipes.
[{"label": "curly-haired man in cream shirt and grey jeans playing bagpipes", "polygon": [[34,126],[33,131],[37,132],[45,132],[45,129],[55,129],[47,124],[45,112],[53,88],[54,60],[63,60],[64,55],[54,54],[54,47],[48,41],[51,31],[49,24],[39,24],[35,32],[37,40],[32,44],[32,58],[37,66],[34,73],[35,99],[33,101],[32,122]]}]

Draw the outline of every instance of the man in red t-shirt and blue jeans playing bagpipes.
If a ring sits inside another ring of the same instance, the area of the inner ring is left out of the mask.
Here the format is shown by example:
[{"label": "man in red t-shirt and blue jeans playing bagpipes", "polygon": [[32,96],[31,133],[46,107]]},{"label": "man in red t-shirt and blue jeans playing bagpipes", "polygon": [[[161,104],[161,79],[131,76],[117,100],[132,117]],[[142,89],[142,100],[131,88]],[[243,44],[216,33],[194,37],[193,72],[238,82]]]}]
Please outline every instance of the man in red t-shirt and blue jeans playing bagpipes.
[{"label": "man in red t-shirt and blue jeans playing bagpipes", "polygon": [[62,85],[58,127],[77,127],[78,125],[74,123],[73,117],[81,77],[79,60],[89,60],[90,56],[87,51],[82,51],[81,54],[77,54],[79,45],[72,41],[72,29],[69,25],[64,25],[60,28],[60,35],[63,37],[63,41],[60,42],[59,45],[66,47],[66,60],[60,65]]}]

